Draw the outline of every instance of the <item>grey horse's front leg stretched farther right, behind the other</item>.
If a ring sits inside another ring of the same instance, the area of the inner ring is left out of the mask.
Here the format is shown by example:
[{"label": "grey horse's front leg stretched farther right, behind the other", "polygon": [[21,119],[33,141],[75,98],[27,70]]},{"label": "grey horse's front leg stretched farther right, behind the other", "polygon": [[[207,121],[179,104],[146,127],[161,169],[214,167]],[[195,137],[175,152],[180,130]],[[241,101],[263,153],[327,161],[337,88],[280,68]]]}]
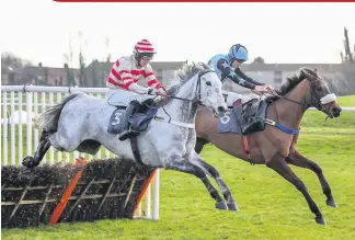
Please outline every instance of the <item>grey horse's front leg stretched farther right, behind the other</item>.
[{"label": "grey horse's front leg stretched farther right, behind the other", "polygon": [[227,206],[229,210],[238,210],[238,206],[236,201],[232,197],[232,194],[230,192],[230,190],[228,188],[227,184],[225,183],[225,181],[220,178],[219,172],[217,171],[217,169],[213,165],[210,165],[209,163],[205,162],[203,159],[201,158],[196,158],[198,164],[204,168],[216,181],[216,183],[218,184],[220,191],[224,193],[225,199],[227,201]]}]

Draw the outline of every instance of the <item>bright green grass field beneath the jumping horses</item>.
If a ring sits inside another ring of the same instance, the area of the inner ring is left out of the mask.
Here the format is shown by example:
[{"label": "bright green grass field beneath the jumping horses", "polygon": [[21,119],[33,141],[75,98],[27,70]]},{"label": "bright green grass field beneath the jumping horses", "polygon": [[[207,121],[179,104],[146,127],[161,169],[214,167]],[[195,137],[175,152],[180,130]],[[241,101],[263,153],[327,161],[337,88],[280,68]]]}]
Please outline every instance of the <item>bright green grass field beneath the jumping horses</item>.
[{"label": "bright green grass field beneath the jumping horses", "polygon": [[[339,98],[341,106],[355,106],[355,96]],[[337,208],[325,205],[317,175],[291,167],[307,185],[327,220],[313,220],[304,196],[265,165],[250,165],[214,146],[202,157],[226,181],[239,212],[214,208],[203,183],[187,174],[161,171],[158,221],[100,220],[58,224],[32,229],[2,229],[2,239],[355,239],[355,113],[343,112],[324,122],[324,114],[309,111],[302,122],[298,150],[319,163],[332,188]],[[216,185],[216,184],[214,184]]]}]

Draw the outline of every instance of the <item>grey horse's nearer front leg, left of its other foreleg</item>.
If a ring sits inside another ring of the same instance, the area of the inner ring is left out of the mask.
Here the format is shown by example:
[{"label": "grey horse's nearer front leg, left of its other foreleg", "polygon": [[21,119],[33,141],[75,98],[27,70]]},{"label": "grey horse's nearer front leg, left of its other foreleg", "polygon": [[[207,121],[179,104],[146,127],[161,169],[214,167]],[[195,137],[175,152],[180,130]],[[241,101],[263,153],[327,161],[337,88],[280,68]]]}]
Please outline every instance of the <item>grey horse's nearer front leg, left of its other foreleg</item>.
[{"label": "grey horse's nearer front leg, left of its other foreleg", "polygon": [[207,187],[210,196],[216,199],[216,208],[218,209],[228,209],[225,201],[219,196],[218,191],[213,186],[213,184],[209,182],[205,171],[201,169],[201,167],[193,164],[190,161],[186,161],[185,159],[174,159],[169,160],[168,163],[164,165],[164,169],[167,170],[176,170],[180,172],[185,172],[193,174],[201,179],[205,186]]}]

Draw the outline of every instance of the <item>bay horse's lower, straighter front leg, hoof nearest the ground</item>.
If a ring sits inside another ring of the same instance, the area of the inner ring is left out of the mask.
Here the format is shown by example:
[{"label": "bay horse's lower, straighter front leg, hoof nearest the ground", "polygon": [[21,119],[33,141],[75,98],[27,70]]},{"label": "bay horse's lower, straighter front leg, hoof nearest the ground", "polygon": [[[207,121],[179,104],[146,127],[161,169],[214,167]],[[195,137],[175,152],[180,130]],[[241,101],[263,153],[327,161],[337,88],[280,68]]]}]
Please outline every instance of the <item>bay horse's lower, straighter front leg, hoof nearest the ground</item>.
[{"label": "bay horse's lower, straighter front leg, hoof nearest the ground", "polygon": [[275,170],[278,174],[280,174],[288,182],[294,184],[298,191],[300,191],[311,212],[316,215],[316,222],[325,225],[325,219],[322,213],[319,210],[312,197],[309,195],[308,190],[305,183],[295,174],[295,172],[289,168],[286,163],[285,159],[279,155],[275,155],[271,160],[266,161],[266,165],[273,170]]}]

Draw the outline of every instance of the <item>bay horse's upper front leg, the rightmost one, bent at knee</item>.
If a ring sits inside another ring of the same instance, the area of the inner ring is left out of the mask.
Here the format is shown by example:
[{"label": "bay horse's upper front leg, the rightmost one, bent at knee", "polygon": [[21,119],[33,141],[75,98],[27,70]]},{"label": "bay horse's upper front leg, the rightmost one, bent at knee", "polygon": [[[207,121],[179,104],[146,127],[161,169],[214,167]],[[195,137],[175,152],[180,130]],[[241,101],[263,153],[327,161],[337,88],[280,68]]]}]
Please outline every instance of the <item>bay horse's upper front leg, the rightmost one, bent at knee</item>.
[{"label": "bay horse's upper front leg, the rightmost one, bent at knee", "polygon": [[323,171],[316,162],[307,159],[298,151],[295,151],[293,155],[288,156],[288,158],[286,158],[286,161],[289,164],[312,170],[317,174],[319,182],[322,185],[323,193],[327,196],[327,205],[336,207],[336,203],[333,198],[332,191],[325,180]]}]

